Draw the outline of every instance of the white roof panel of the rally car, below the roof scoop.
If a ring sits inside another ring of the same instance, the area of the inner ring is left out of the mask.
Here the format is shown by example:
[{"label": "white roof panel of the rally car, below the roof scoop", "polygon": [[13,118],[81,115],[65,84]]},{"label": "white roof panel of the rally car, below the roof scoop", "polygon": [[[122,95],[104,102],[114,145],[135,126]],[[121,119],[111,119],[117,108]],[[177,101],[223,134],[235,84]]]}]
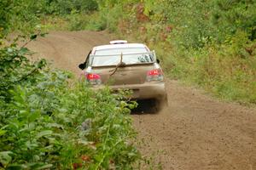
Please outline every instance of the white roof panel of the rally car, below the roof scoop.
[{"label": "white roof panel of the rally car, below the roof scoop", "polygon": [[120,44],[96,46],[93,50],[97,51],[102,49],[113,49],[113,48],[147,48],[147,47],[143,43],[120,43]]}]

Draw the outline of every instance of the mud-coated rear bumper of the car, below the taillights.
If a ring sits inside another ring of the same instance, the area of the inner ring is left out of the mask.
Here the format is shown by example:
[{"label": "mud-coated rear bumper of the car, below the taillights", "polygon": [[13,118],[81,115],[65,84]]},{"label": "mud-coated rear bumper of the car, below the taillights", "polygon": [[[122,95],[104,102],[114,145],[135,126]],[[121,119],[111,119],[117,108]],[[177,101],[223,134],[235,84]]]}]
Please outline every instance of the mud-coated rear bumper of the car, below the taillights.
[{"label": "mud-coated rear bumper of the car, below the taillights", "polygon": [[125,84],[110,86],[113,91],[119,89],[130,89],[133,91],[132,99],[165,99],[166,86],[165,82],[145,82],[143,84]]}]

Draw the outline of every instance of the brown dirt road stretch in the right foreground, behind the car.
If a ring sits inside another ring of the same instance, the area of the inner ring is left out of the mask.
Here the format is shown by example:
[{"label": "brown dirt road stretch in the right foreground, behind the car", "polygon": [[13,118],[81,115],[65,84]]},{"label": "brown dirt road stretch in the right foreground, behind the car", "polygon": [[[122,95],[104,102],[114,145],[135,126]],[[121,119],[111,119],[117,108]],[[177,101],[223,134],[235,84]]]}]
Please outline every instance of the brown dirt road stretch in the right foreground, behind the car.
[{"label": "brown dirt road stretch in the right foreground, behind the car", "polygon": [[[167,81],[169,106],[137,115],[135,125],[164,169],[255,169],[256,110],[222,103],[201,91]],[[149,126],[148,126],[149,125]]]}]

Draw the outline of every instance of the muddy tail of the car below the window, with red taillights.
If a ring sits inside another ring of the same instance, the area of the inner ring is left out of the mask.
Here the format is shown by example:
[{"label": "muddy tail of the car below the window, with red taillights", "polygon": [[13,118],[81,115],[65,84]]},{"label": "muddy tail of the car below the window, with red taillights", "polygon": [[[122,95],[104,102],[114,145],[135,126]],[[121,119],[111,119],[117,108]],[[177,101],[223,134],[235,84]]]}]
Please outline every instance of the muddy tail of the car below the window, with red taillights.
[{"label": "muddy tail of the car below the window, with red taillights", "polygon": [[110,84],[113,90],[131,89],[133,99],[161,99],[165,94],[163,73],[157,65],[130,65],[120,67],[112,76],[113,67],[97,67],[90,73],[94,88]]}]

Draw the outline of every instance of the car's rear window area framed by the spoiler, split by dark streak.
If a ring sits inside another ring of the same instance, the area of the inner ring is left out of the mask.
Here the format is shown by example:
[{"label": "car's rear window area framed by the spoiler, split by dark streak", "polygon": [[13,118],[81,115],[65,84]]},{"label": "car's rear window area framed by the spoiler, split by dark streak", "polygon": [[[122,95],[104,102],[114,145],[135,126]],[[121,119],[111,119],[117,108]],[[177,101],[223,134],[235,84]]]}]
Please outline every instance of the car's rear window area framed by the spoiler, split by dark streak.
[{"label": "car's rear window area framed by the spoiler, split by dark streak", "polygon": [[[121,61],[121,54],[93,55],[92,66],[118,65]],[[123,54],[122,62],[125,65],[147,64],[154,62],[154,54]]]}]

